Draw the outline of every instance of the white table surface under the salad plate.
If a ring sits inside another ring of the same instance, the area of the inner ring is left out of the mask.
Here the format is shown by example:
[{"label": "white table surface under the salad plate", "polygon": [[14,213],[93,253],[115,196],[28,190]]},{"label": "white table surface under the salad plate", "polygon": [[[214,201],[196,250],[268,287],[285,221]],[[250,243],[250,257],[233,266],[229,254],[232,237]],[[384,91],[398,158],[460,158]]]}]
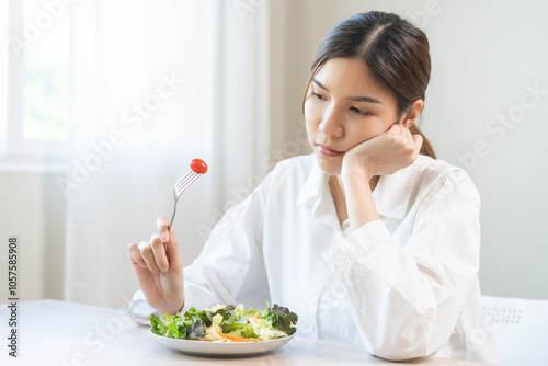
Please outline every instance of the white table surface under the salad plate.
[{"label": "white table surface under the salad plate", "polygon": [[[10,357],[9,348],[3,345],[0,365],[482,365],[439,357],[391,363],[367,354],[359,346],[298,336],[259,356],[192,356],[157,342],[148,327],[135,324],[122,309],[58,300],[18,306],[18,358]],[[10,332],[8,319],[8,307],[2,304],[2,344]]]}]

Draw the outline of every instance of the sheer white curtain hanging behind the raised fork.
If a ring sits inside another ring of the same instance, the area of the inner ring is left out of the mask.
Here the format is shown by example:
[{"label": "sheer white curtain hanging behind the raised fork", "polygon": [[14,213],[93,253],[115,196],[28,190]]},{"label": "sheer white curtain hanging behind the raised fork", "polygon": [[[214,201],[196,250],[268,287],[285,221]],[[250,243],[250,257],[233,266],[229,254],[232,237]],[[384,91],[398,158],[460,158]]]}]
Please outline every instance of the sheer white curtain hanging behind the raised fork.
[{"label": "sheer white curtain hanging behind the raised fork", "polygon": [[179,202],[185,264],[265,173],[269,1],[94,0],[70,16],[65,298],[125,307],[137,289],[127,245],[171,216],[193,158],[209,172]]}]

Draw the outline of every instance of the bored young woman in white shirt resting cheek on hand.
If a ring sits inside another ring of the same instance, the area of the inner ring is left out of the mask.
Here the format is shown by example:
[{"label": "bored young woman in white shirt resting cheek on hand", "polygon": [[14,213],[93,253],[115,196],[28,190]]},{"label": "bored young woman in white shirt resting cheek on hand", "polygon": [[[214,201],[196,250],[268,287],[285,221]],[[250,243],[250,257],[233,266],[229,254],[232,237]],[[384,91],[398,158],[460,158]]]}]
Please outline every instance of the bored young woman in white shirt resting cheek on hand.
[{"label": "bored young woman in white shirt resting cheek on hand", "polygon": [[128,248],[136,298],[161,313],[277,302],[299,314],[300,335],[389,359],[495,363],[482,327],[478,192],[415,125],[430,71],[425,34],[398,15],[338,24],[302,105],[313,153],[278,163],[184,271],[158,219],[158,235]]}]

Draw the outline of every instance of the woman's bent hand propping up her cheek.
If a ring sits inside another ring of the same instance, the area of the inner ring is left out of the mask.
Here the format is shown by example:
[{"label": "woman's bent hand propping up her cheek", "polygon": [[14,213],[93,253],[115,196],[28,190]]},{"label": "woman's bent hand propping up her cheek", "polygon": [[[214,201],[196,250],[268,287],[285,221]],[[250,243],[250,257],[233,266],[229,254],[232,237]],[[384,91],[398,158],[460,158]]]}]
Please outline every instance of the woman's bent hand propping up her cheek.
[{"label": "woman's bent hand propping up her cheek", "polygon": [[408,127],[393,124],[386,133],[350,149],[344,155],[341,175],[344,179],[350,173],[364,172],[372,179],[396,173],[416,160],[421,147],[421,135],[411,135]]}]

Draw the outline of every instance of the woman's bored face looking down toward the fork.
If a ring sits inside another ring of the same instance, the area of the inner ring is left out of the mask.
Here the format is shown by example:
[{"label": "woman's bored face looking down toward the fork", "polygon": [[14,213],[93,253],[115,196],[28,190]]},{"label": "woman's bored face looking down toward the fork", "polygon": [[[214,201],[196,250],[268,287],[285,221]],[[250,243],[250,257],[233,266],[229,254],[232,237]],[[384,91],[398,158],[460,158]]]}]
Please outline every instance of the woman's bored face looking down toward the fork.
[{"label": "woman's bored face looking down toward the fork", "polygon": [[344,153],[397,122],[397,102],[357,58],[333,58],[313,77],[305,100],[308,141],[320,168],[341,174]]}]

